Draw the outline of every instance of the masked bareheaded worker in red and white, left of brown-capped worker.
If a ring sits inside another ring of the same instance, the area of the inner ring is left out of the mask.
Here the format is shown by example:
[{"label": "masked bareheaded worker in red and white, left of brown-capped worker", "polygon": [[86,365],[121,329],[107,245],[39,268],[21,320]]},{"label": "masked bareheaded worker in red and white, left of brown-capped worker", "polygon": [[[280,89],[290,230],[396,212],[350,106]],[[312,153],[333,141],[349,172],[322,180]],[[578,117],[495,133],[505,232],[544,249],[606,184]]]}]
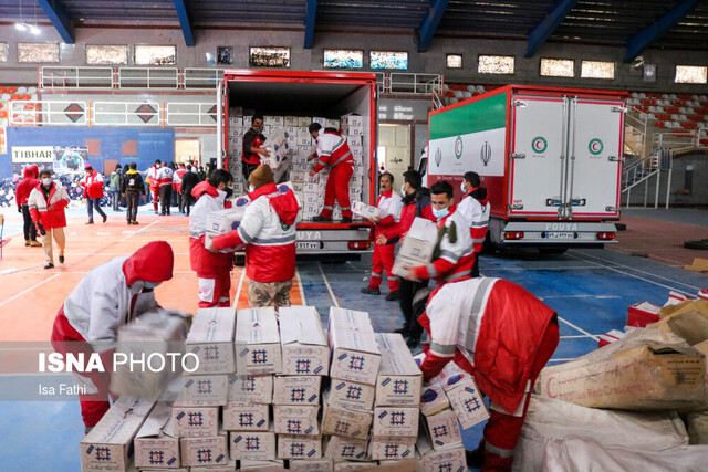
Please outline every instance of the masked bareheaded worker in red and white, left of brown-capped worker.
[{"label": "masked bareheaded worker in red and white, left of brown-capped worker", "polygon": [[197,183],[191,196],[197,199],[189,213],[189,262],[199,283],[199,307],[229,306],[231,253],[210,252],[205,248],[207,214],[225,209],[227,190],[233,177],[223,169],[211,172],[209,180]]}]

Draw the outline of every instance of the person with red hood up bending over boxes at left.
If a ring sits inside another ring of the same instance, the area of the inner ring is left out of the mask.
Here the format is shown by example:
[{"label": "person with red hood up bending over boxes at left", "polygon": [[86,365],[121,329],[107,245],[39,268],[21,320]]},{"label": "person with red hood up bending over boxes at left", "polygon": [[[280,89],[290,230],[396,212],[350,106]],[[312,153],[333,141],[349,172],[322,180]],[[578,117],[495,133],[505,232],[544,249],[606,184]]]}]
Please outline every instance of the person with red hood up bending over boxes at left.
[{"label": "person with red hood up bending over boxes at left", "polygon": [[[173,277],[174,253],[165,241],[154,241],[128,258],[116,258],[91,270],[59,310],[52,329],[58,353],[98,353],[103,366],[113,366],[117,328],[158,307],[155,289]],[[86,395],[80,395],[81,415],[91,430],[108,411],[110,371],[80,375]]]}]

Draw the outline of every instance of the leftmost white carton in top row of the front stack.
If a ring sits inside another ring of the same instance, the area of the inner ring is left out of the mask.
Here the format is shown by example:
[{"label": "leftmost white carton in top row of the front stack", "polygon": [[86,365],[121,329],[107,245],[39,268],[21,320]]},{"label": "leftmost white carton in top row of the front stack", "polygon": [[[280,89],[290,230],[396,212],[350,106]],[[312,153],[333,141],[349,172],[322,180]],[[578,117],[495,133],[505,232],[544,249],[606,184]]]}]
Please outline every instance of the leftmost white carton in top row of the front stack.
[{"label": "leftmost white carton in top row of the front stack", "polygon": [[199,358],[195,374],[232,374],[233,333],[236,313],[233,308],[201,308],[197,311],[187,335],[186,350]]}]

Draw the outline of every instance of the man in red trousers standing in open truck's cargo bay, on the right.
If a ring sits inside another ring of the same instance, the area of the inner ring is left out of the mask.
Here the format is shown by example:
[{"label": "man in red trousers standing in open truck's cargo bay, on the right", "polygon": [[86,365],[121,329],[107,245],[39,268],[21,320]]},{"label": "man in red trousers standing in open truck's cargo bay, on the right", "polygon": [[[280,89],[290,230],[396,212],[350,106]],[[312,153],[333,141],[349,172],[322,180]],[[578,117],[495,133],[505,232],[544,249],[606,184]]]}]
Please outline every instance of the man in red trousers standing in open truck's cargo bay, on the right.
[{"label": "man in red trousers standing in open truck's cargo bay, on the right", "polygon": [[310,135],[317,143],[317,150],[308,157],[308,160],[316,159],[317,164],[310,171],[313,177],[324,166],[330,166],[330,178],[324,189],[324,208],[322,212],[314,217],[313,221],[332,221],[332,210],[334,201],[340,203],[342,209],[342,222],[352,222],[352,206],[350,203],[350,179],[354,174],[354,158],[346,139],[336,129],[326,128],[322,132],[322,125],[313,123],[308,128]]}]

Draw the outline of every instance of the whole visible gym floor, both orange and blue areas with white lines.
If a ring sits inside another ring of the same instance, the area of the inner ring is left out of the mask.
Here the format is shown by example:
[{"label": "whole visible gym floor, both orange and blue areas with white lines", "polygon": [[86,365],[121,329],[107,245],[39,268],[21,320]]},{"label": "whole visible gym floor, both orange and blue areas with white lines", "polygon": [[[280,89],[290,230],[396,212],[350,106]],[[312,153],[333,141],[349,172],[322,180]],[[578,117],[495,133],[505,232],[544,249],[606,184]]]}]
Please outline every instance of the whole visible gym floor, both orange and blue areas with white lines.
[{"label": "whole visible gym floor, both orange and blue areas with white lines", "polygon": [[[48,340],[56,311],[86,272],[154,240],[168,241],[176,258],[175,275],[156,290],[157,300],[165,307],[194,313],[197,281],[189,269],[188,219],[156,217],[149,210],[142,207],[140,225],[128,227],[124,214],[111,210],[107,223],[84,225],[85,209],[70,209],[66,262],[59,265],[55,261],[53,270],[42,269],[40,248],[24,248],[21,217],[6,212],[0,261],[0,342],[4,348],[7,342]],[[627,306],[634,303],[662,305],[669,291],[695,295],[708,287],[708,276],[681,269],[694,256],[706,258],[705,251],[686,250],[681,244],[686,239],[708,238],[707,211],[625,210],[623,222],[627,230],[618,233],[620,242],[605,250],[570,250],[562,255],[528,250],[481,258],[483,275],[521,284],[558,312],[561,342],[550,364],[595,349],[598,335],[623,329]],[[371,256],[345,263],[299,262],[293,303],[314,305],[323,321],[333,305],[367,311],[378,332],[391,332],[403,317],[397,302],[384,301],[385,282],[381,296],[360,293],[369,270]],[[246,307],[248,280],[240,268],[231,277],[231,300]],[[2,388],[20,381],[2,374],[7,371],[0,370]],[[80,471],[79,442],[84,432],[77,401],[0,401],[0,469]],[[480,437],[481,426],[466,431],[467,448],[473,449]]]}]

